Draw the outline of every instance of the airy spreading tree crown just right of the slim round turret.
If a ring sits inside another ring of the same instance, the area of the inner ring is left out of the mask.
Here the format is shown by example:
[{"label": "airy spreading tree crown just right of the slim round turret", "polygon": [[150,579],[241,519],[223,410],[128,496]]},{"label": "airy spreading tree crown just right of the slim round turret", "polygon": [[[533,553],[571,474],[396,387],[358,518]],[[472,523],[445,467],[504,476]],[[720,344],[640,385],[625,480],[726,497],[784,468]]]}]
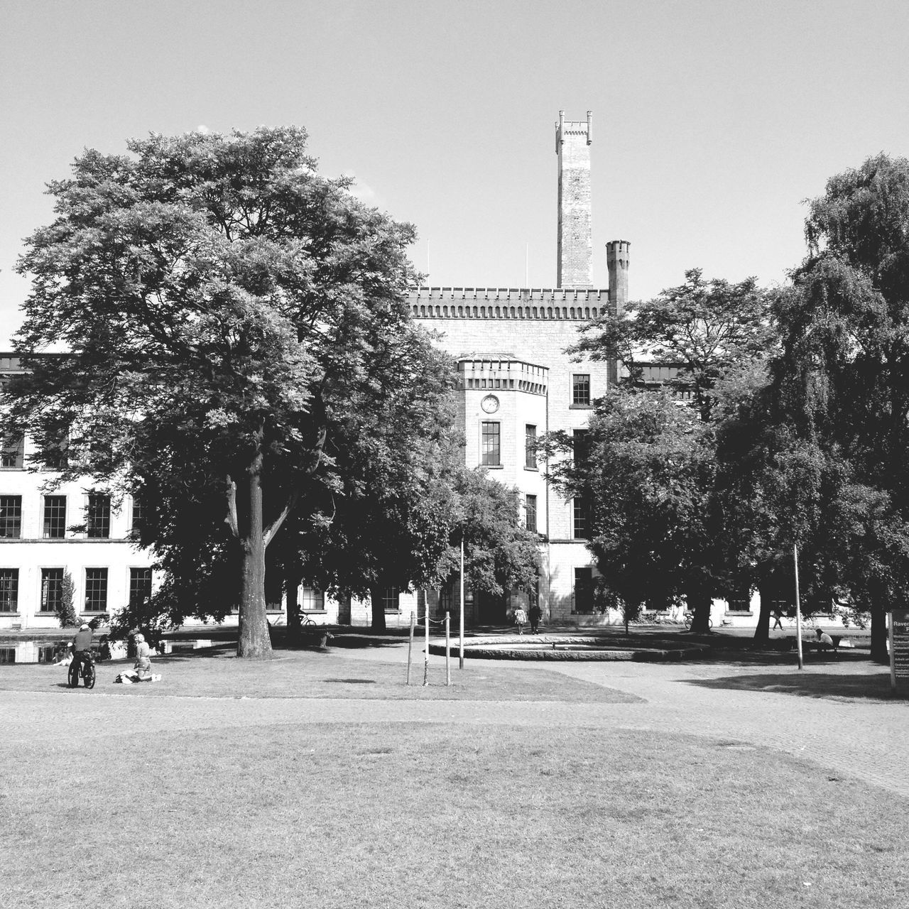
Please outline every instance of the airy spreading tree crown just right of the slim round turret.
[{"label": "airy spreading tree crown just right of the slim round turret", "polygon": [[643,386],[642,365],[678,369],[667,385],[691,392],[707,418],[710,391],[731,366],[767,354],[774,334],[767,298],[754,278],[730,284],[705,280],[699,268],[685,272],[684,284],[652,300],[630,303],[582,329],[574,353],[619,360],[627,370],[624,385]]}]

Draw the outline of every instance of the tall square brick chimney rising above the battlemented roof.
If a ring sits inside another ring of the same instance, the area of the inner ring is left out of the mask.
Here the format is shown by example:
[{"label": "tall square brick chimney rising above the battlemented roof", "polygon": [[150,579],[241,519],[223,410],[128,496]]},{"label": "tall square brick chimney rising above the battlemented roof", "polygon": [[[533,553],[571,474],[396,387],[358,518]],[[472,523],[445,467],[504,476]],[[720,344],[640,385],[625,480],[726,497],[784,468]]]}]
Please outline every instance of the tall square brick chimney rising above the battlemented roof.
[{"label": "tall square brick chimney rising above the battlemented roof", "polygon": [[556,284],[593,287],[594,237],[590,224],[590,111],[569,121],[559,111],[555,154],[559,156],[559,230]]}]

